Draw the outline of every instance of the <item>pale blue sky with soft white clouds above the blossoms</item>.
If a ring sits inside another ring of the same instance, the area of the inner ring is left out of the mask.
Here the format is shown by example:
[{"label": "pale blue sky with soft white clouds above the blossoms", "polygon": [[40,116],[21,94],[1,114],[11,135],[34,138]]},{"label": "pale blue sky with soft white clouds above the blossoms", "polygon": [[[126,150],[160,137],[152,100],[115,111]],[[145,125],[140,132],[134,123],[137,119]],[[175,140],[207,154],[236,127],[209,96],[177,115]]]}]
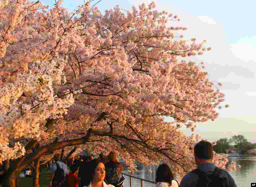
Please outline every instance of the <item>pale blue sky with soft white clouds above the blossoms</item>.
[{"label": "pale blue sky with soft white clouds above the blossoms", "polygon": [[[50,7],[55,3],[53,0],[42,2]],[[63,6],[71,12],[83,2],[64,0]],[[98,8],[104,13],[105,9],[118,4],[121,8],[130,10],[133,5],[138,7],[139,4],[150,2],[103,0]],[[194,57],[193,60],[203,61],[209,79],[223,84],[220,90],[226,95],[225,104],[230,105],[230,108],[217,109],[220,115],[216,121],[198,123],[194,134],[200,134],[209,141],[241,134],[249,142],[256,143],[256,25],[253,24],[256,1],[158,0],[156,7],[159,11],[165,10],[178,15],[180,22],[170,22],[170,25],[187,27],[188,30],[182,33],[184,39],[207,40],[205,46],[212,47],[212,50]],[[181,130],[186,135],[192,134],[185,127]]]}]

